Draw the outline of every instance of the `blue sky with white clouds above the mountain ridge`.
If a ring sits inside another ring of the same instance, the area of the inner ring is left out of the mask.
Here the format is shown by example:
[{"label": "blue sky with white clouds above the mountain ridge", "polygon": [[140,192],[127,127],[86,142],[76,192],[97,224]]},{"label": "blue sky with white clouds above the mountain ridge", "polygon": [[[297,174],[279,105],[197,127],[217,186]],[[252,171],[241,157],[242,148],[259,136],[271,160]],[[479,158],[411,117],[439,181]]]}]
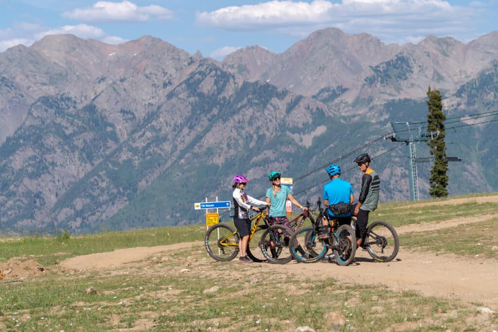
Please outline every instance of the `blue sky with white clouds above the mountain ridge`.
[{"label": "blue sky with white clouds above the mountain ridge", "polygon": [[0,0],[0,52],[47,34],[109,44],[143,35],[216,59],[260,45],[284,52],[324,27],[370,33],[384,43],[428,34],[465,43],[498,30],[498,0]]}]

